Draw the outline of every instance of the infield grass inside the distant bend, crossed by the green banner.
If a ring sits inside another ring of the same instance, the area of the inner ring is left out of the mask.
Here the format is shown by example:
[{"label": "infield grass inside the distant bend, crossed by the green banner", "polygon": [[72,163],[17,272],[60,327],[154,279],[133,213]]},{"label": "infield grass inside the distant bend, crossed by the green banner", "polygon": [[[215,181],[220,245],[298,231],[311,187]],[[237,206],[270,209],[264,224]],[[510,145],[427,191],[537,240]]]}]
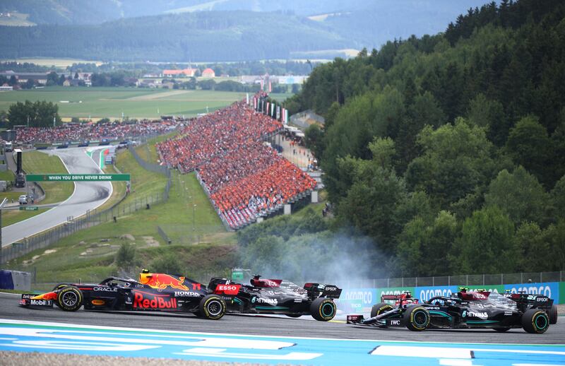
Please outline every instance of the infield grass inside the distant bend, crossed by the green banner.
[{"label": "infield grass inside the distant bend, crossed by the green banner", "polygon": [[[56,174],[68,173],[65,166],[57,156],[49,156],[40,151],[26,151],[22,154],[23,170],[28,174]],[[72,182],[42,182],[45,199],[42,204],[57,203],[68,199],[74,191]]]}]

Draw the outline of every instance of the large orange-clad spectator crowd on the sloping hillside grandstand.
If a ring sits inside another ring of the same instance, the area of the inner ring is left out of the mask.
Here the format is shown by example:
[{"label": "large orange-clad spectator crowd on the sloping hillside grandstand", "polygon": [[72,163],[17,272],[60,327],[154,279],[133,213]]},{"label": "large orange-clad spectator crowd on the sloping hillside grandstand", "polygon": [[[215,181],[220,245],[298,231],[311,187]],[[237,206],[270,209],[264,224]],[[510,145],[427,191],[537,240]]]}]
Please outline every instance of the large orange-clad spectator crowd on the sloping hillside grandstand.
[{"label": "large orange-clad spectator crowd on the sloping hillside grandstand", "polygon": [[157,144],[163,163],[196,170],[220,217],[242,228],[304,196],[316,181],[264,143],[283,125],[245,102],[194,119]]}]

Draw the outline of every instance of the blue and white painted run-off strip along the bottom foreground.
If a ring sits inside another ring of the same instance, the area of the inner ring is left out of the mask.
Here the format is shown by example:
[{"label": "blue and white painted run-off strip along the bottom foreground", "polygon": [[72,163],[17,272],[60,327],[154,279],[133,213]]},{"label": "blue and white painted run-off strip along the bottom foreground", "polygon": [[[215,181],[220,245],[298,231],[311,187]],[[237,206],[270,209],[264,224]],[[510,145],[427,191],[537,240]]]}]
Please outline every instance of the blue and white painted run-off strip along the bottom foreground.
[{"label": "blue and white painted run-off strip along the bottom foreground", "polygon": [[565,363],[565,345],[244,336],[8,319],[0,319],[0,350],[295,365],[533,366]]}]

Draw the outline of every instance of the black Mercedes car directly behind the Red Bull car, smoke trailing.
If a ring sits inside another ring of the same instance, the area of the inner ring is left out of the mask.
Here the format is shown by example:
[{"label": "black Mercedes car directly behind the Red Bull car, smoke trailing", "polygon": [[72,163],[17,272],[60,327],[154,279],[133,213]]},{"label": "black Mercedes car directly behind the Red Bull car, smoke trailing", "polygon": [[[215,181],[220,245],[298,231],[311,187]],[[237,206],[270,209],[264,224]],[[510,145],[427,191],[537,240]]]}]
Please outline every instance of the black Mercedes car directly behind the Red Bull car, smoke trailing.
[{"label": "black Mercedes car directly behind the Red Bull car, smoke trailing", "polygon": [[251,278],[250,285],[227,278],[212,278],[208,288],[222,295],[227,312],[246,314],[311,315],[319,321],[335,317],[341,289],[335,285],[306,283],[303,288],[289,281]]}]

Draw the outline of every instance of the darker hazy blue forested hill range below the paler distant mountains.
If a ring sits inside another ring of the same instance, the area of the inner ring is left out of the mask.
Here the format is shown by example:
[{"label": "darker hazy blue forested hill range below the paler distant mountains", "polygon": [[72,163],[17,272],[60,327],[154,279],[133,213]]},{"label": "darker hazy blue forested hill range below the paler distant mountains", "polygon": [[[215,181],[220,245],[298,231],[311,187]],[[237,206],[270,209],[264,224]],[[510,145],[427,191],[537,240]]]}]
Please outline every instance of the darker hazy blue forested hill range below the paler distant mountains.
[{"label": "darker hazy blue forested hill range below the paler distant mountains", "polygon": [[101,25],[0,27],[0,49],[4,58],[288,59],[290,52],[343,49],[351,43],[307,18],[245,11],[129,18]]}]

